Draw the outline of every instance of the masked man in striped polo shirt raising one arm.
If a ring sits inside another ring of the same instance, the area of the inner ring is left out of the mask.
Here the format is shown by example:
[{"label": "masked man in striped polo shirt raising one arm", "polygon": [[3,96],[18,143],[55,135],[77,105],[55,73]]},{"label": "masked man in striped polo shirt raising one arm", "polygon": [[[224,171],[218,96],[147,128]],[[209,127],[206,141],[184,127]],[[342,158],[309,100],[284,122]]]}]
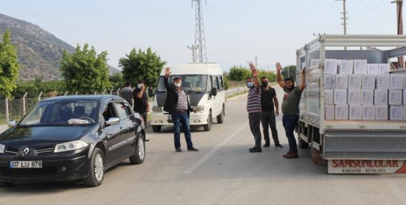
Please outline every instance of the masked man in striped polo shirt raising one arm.
[{"label": "masked man in striped polo shirt raising one arm", "polygon": [[262,152],[261,148],[261,88],[259,86],[258,71],[254,64],[250,63],[252,77],[247,78],[247,86],[250,89],[247,100],[248,119],[250,129],[255,139],[255,146],[250,148],[250,152]]}]

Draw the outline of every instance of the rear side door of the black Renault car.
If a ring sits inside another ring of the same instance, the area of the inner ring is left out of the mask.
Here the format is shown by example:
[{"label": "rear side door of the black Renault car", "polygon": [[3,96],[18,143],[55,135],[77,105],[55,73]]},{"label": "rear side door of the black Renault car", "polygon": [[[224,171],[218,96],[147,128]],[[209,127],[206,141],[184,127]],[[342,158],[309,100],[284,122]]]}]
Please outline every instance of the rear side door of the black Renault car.
[{"label": "rear side door of the black Renault car", "polygon": [[131,117],[132,112],[129,110],[127,103],[123,101],[114,101],[114,106],[118,117],[120,118],[120,130],[121,134],[124,136],[123,140],[125,140],[125,144],[119,149],[122,149],[124,155],[126,155],[134,149],[134,144],[131,142],[134,142],[136,136],[134,129],[134,127],[136,127],[136,121]]}]

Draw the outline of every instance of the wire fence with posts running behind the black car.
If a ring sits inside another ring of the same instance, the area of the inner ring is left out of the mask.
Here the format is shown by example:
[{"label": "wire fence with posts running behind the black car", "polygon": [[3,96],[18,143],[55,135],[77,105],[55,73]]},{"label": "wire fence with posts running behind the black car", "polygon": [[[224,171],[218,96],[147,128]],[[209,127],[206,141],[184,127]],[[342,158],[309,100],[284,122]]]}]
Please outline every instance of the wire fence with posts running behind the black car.
[{"label": "wire fence with posts running behind the black car", "polygon": [[[63,96],[63,95],[103,95],[111,94],[118,95],[120,89],[105,90],[104,92],[89,92],[89,93],[39,93],[36,97],[33,97],[29,93],[25,93],[23,96],[13,96],[13,99],[8,99],[6,97],[0,97],[0,125],[7,124],[9,120],[19,120],[21,119],[31,108],[33,108],[40,100]],[[30,96],[30,97],[27,97]]]}]

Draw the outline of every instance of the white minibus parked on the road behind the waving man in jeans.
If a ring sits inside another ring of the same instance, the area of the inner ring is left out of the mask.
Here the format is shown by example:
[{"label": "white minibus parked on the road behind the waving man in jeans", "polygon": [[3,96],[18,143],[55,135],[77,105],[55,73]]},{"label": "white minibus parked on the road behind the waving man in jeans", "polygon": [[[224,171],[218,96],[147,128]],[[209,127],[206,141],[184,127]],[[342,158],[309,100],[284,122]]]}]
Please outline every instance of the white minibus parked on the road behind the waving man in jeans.
[{"label": "white minibus parked on the road behind the waving man in jeans", "polygon": [[171,68],[169,82],[174,77],[182,78],[182,88],[189,96],[190,106],[196,113],[190,114],[190,126],[202,126],[205,131],[212,128],[213,119],[218,124],[225,121],[226,92],[221,66],[215,63],[165,65],[160,72],[151,112],[151,125],[154,132],[160,132],[162,126],[173,125],[171,115],[164,111],[166,88],[164,84],[165,68]]}]

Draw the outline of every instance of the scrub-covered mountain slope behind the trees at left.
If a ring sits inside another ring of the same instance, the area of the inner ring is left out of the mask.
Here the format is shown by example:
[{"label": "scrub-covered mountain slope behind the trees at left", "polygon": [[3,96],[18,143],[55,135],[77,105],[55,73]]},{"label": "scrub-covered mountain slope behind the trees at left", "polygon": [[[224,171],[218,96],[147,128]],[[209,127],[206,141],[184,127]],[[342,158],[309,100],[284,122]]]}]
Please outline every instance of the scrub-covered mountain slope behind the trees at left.
[{"label": "scrub-covered mountain slope behind the trees at left", "polygon": [[[58,79],[63,50],[75,51],[73,46],[39,26],[0,14],[0,35],[2,37],[6,29],[11,32],[11,43],[17,45],[18,60],[23,65],[19,72],[21,80]],[[111,66],[108,67],[110,75],[120,72]]]}]

